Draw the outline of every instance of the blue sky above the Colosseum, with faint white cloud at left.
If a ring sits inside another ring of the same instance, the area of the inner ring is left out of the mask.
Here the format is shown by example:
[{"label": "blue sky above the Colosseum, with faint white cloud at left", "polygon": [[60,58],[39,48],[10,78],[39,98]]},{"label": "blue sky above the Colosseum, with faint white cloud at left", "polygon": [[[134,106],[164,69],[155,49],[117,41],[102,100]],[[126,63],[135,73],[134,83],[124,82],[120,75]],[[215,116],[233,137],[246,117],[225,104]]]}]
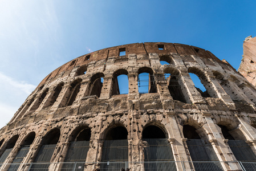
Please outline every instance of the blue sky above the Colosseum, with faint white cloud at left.
[{"label": "blue sky above the Colosseum, with faint white cloud at left", "polygon": [[190,44],[238,69],[256,1],[0,0],[0,127],[55,68],[137,42]]}]

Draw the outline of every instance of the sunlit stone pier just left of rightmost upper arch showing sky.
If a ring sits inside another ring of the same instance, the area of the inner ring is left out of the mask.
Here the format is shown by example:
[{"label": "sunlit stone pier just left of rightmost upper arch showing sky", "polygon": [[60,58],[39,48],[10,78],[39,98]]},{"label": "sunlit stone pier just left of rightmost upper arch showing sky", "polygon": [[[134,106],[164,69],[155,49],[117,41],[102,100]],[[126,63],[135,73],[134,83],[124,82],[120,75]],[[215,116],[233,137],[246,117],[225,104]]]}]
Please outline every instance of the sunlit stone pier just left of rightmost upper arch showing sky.
[{"label": "sunlit stone pier just left of rightmost upper arch showing sky", "polygon": [[194,83],[188,73],[182,72],[180,76],[178,76],[177,80],[187,103],[205,104],[204,99],[202,99],[200,92],[198,92],[194,87]]}]

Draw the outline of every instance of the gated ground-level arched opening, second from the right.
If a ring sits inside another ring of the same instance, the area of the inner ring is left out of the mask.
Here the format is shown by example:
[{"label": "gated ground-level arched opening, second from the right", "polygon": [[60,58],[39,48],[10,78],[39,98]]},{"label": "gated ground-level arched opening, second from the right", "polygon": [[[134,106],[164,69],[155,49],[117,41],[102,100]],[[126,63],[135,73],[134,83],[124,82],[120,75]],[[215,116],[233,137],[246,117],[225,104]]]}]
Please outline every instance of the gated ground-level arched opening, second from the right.
[{"label": "gated ground-level arched opening, second from the right", "polygon": [[202,128],[196,129],[190,125],[183,126],[183,135],[188,139],[186,145],[188,145],[194,169],[206,171],[214,168],[214,170],[223,170],[212,144],[208,140],[202,140],[198,135],[197,131],[200,129]]}]

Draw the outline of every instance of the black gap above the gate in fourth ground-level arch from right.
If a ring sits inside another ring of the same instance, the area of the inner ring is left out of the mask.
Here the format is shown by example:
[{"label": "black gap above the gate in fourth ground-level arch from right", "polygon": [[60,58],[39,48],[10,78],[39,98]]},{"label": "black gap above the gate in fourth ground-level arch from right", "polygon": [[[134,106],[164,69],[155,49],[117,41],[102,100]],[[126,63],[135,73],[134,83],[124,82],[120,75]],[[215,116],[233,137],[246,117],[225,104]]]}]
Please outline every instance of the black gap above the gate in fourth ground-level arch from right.
[{"label": "black gap above the gate in fourth ground-level arch from right", "polygon": [[126,140],[127,136],[127,129],[119,126],[110,129],[105,136],[105,140]]}]

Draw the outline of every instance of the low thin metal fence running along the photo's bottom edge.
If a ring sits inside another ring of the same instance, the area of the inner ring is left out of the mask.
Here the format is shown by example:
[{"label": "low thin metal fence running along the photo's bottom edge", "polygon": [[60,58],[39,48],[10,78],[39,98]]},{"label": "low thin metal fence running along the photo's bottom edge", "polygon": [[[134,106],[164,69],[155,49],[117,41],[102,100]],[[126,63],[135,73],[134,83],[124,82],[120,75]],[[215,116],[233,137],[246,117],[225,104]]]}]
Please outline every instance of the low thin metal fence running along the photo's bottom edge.
[{"label": "low thin metal fence running along the photo's bottom edge", "polygon": [[[92,171],[95,168],[99,170],[152,170],[152,171],[164,171],[173,170],[173,166],[176,166],[176,170],[182,171],[197,171],[197,170],[220,170],[219,164],[226,166],[235,164],[238,170],[241,171],[253,171],[256,170],[256,162],[241,162],[241,161],[155,161],[155,162],[58,162],[58,163],[26,163],[26,164],[0,164],[1,171]],[[62,168],[62,165],[68,167]],[[14,168],[14,169],[11,169]],[[62,169],[60,169],[62,168]],[[113,169],[114,168],[114,169]],[[226,169],[225,169],[226,170]]]}]

